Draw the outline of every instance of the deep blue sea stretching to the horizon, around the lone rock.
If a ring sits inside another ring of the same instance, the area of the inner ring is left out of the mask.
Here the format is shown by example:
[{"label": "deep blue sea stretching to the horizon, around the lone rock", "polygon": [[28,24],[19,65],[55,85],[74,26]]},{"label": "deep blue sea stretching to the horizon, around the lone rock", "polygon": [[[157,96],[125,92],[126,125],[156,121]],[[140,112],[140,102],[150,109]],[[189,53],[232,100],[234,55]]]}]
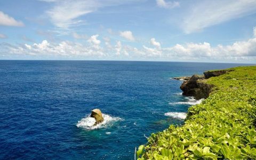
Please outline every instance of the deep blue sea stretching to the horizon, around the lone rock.
[{"label": "deep blue sea stretching to the horizon, around the lone rock", "polygon": [[[193,98],[176,76],[242,64],[0,61],[0,159],[133,159],[144,137],[181,125]],[[105,123],[88,116],[101,109]]]}]

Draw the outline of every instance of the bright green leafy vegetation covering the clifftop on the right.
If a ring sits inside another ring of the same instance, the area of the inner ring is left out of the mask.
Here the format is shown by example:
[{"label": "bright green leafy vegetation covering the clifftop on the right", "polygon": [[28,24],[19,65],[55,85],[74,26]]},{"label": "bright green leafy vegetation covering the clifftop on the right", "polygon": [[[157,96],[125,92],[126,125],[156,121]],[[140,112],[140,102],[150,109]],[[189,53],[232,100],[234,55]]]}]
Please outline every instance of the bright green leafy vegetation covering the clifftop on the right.
[{"label": "bright green leafy vegetation covering the clifftop on the right", "polygon": [[209,98],[189,108],[185,124],[153,133],[138,159],[256,159],[256,66],[205,79]]}]

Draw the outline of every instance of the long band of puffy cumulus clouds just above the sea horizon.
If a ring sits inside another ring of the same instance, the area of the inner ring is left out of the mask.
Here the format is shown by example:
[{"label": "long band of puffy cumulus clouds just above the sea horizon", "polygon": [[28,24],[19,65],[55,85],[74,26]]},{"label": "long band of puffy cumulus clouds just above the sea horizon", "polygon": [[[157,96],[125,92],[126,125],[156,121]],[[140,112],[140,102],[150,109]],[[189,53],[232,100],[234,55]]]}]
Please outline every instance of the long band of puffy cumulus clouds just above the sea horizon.
[{"label": "long band of puffy cumulus clouds just above the sea horizon", "polygon": [[[253,29],[253,32],[255,28]],[[34,55],[34,56],[57,56],[57,57],[76,57],[91,58],[105,57],[117,58],[126,56],[130,59],[164,59],[164,60],[256,60],[256,36],[247,41],[238,41],[231,45],[212,46],[210,43],[186,43],[176,44],[170,47],[161,47],[160,43],[154,38],[150,39],[151,45],[148,47],[142,45],[140,48],[122,44],[117,41],[115,45],[110,44],[109,38],[103,38],[105,46],[102,47],[99,35],[92,35],[85,44],[62,41],[58,44],[49,43],[44,40],[41,43],[10,45],[7,43],[0,44],[0,56],[6,53],[17,55]],[[116,56],[118,55],[118,56]]]}]

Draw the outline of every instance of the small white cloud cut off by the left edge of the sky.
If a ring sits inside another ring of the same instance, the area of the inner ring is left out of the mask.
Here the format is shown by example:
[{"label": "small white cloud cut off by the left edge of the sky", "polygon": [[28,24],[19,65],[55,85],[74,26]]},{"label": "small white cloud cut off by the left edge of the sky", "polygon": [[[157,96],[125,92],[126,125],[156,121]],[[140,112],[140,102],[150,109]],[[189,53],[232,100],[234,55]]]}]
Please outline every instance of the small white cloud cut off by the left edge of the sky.
[{"label": "small white cloud cut off by the left edge of the sky", "polygon": [[10,17],[8,14],[0,11],[0,26],[23,27],[25,25],[23,24],[23,22],[17,21],[14,18]]}]

